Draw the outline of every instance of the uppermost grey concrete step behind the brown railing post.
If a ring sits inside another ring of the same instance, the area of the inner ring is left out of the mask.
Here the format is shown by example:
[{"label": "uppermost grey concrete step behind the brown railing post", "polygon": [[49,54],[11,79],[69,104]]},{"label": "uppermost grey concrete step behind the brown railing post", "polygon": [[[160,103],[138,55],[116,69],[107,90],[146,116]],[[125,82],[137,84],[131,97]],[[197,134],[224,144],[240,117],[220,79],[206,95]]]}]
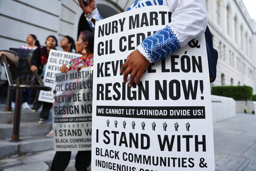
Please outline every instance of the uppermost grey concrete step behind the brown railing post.
[{"label": "uppermost grey concrete step behind the brown railing post", "polygon": [[[14,111],[5,112],[0,111],[0,124],[13,123]],[[36,122],[39,120],[39,112],[32,112],[31,110],[23,110],[20,114],[20,122]]]}]

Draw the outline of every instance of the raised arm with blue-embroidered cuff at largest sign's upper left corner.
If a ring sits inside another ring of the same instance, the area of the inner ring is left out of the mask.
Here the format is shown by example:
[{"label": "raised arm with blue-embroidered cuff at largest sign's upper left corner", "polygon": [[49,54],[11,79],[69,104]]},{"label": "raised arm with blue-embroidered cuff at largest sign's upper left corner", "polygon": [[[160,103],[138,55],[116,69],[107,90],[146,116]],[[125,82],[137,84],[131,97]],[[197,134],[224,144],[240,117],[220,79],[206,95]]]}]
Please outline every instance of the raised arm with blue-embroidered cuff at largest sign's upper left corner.
[{"label": "raised arm with blue-embroidered cuff at largest sign's upper left corner", "polygon": [[95,0],[88,0],[88,6],[85,6],[82,0],[78,0],[78,2],[85,14],[84,16],[86,17],[86,20],[88,21],[92,31],[94,32],[95,22],[103,19],[96,7]]}]

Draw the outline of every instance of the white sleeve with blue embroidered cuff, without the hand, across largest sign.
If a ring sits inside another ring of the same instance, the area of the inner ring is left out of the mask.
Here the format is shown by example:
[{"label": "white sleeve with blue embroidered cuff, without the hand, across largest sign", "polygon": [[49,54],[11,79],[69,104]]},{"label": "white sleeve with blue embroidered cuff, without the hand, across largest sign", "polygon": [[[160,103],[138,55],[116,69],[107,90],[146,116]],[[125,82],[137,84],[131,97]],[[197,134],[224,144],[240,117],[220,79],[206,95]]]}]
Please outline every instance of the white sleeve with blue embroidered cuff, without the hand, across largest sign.
[{"label": "white sleeve with blue embroidered cuff, without the hand, across largest sign", "polygon": [[[171,0],[167,0],[171,4]],[[172,11],[173,5],[169,5]],[[172,14],[172,22],[145,38],[137,49],[154,63],[176,52],[202,35],[207,27],[207,9],[204,0],[178,0]]]}]

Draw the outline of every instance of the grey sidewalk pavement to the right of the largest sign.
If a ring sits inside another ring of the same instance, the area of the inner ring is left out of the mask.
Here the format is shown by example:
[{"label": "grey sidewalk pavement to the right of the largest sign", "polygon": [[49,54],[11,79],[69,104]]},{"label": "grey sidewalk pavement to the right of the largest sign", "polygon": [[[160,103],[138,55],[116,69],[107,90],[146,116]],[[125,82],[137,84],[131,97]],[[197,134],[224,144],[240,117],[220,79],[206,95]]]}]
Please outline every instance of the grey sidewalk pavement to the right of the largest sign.
[{"label": "grey sidewalk pavement to the right of the largest sign", "polygon": [[216,171],[256,171],[256,115],[236,114],[214,127]]}]

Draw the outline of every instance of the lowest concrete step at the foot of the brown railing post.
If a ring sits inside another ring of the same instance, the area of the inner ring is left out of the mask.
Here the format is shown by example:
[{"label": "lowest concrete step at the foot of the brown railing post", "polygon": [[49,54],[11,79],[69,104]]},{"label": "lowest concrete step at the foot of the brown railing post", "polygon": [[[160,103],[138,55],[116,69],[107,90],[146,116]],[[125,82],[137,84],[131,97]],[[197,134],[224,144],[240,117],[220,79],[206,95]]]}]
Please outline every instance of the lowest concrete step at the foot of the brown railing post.
[{"label": "lowest concrete step at the foot of the brown railing post", "polygon": [[21,138],[19,142],[10,142],[9,140],[0,140],[0,159],[54,149],[52,138],[45,136]]}]

